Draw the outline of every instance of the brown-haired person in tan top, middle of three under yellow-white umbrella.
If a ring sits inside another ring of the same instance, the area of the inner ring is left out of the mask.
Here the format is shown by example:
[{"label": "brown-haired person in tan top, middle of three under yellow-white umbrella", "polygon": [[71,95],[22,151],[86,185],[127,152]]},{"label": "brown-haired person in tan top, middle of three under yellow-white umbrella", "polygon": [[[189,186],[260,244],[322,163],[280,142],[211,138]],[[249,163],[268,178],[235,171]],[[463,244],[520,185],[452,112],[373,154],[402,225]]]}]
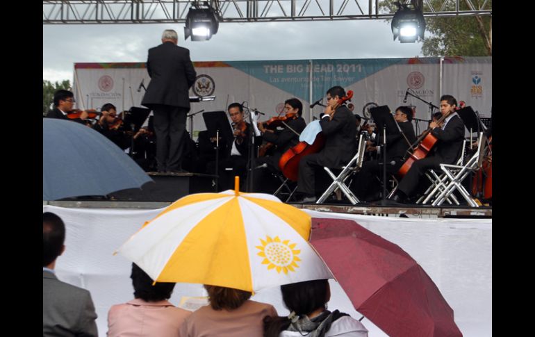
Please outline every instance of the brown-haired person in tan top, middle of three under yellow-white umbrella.
[{"label": "brown-haired person in tan top, middle of three under yellow-white umbrella", "polygon": [[244,290],[205,285],[210,305],[201,306],[180,327],[181,337],[261,337],[263,319],[277,316],[271,304],[251,301]]}]

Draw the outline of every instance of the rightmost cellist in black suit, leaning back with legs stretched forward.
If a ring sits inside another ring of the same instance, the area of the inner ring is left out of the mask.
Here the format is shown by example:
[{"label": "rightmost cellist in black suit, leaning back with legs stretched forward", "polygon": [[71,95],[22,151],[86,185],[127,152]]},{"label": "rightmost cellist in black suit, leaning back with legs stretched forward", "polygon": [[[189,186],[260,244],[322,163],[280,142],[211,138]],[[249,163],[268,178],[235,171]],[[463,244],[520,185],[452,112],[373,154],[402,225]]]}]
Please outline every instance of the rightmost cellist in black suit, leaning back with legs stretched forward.
[{"label": "rightmost cellist in black suit, leaning back with legs stretched forward", "polygon": [[441,97],[441,113],[447,117],[442,126],[437,122],[429,124],[431,134],[438,140],[427,157],[413,163],[397,186],[397,192],[390,198],[392,202],[406,202],[408,197],[415,194],[420,178],[427,170],[438,170],[440,164],[453,164],[459,158],[463,150],[464,123],[455,112],[456,106],[457,101],[452,95],[445,94]]}]

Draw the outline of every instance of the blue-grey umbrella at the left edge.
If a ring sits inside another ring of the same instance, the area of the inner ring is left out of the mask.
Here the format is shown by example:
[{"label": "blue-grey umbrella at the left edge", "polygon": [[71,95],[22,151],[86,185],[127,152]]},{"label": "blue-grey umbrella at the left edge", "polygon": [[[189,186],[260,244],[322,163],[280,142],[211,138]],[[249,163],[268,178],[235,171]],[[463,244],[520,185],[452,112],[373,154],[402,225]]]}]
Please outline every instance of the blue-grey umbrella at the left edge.
[{"label": "blue-grey umbrella at the left edge", "polygon": [[43,119],[43,200],[108,195],[153,181],[108,138],[88,126]]}]

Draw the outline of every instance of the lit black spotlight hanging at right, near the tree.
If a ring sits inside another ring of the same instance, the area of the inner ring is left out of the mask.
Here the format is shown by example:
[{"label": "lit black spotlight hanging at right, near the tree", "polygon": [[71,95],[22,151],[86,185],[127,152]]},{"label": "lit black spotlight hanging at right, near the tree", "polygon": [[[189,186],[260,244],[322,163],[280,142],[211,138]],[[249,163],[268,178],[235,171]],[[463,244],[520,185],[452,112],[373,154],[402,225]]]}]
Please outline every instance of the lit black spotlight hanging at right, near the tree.
[{"label": "lit black spotlight hanging at right, near the tree", "polygon": [[410,9],[407,5],[397,3],[400,8],[392,19],[392,33],[394,40],[399,38],[401,43],[416,42],[418,38],[424,40],[425,19],[421,10]]}]

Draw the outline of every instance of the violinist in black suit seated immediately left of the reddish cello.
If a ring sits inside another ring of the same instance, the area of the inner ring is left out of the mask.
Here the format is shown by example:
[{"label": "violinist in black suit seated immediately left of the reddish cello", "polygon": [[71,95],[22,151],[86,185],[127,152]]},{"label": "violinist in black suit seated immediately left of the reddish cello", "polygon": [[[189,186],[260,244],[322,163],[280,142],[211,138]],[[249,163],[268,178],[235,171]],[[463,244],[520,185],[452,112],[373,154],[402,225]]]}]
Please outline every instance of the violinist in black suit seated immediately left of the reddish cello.
[{"label": "violinist in black suit seated immediately left of the reddish cello", "polygon": [[[290,98],[284,101],[284,115],[281,117],[274,117],[270,119],[270,125],[277,124],[277,127],[272,128],[266,125],[267,122],[258,122],[258,130],[261,132],[262,139],[268,144],[272,144],[272,154],[270,156],[263,156],[256,159],[255,167],[266,164],[261,170],[256,170],[254,173],[254,186],[258,192],[274,192],[276,185],[270,183],[269,172],[281,172],[279,167],[279,160],[281,156],[290,147],[297,145],[299,142],[299,134],[304,130],[306,122],[302,117],[303,104],[297,98]],[[280,122],[280,123],[278,123]],[[265,146],[265,145],[264,145]]]}]

